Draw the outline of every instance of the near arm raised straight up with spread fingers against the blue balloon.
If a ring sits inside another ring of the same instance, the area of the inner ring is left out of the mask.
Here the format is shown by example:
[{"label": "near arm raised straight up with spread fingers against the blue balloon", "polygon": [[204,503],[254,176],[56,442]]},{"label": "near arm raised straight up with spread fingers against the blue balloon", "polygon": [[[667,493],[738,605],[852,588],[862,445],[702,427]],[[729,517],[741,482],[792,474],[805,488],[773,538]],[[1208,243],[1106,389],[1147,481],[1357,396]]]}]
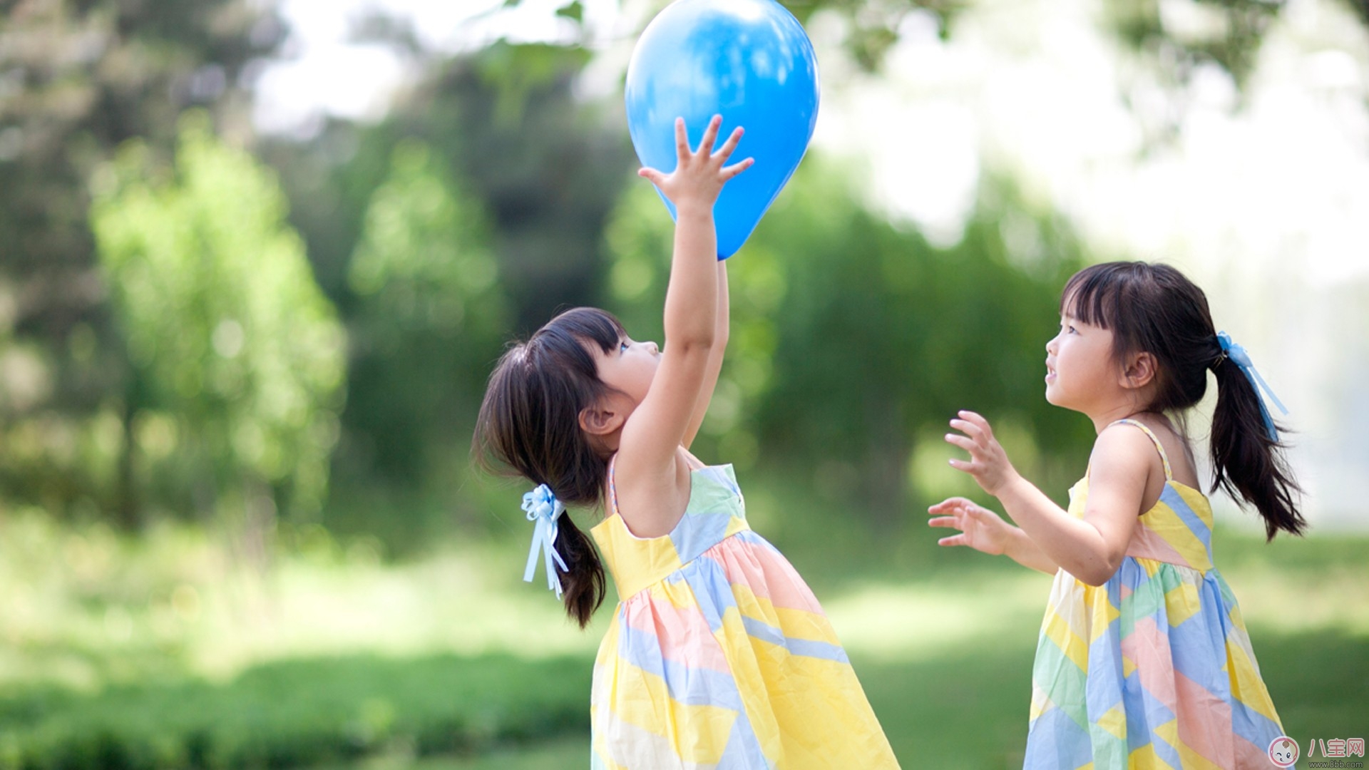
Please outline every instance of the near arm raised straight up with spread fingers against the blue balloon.
[{"label": "near arm raised straight up with spread fingers against the blue balloon", "polygon": [[678,164],[671,174],[642,169],[675,204],[675,251],[665,289],[665,347],[652,385],[623,425],[616,489],[619,512],[638,537],[668,534],[689,503],[690,470],[680,454],[708,378],[717,338],[717,237],[713,203],[723,184],[750,166],[726,166],[742,137],[738,127],[713,152],[720,116],[698,151],[684,121],[675,122]]}]

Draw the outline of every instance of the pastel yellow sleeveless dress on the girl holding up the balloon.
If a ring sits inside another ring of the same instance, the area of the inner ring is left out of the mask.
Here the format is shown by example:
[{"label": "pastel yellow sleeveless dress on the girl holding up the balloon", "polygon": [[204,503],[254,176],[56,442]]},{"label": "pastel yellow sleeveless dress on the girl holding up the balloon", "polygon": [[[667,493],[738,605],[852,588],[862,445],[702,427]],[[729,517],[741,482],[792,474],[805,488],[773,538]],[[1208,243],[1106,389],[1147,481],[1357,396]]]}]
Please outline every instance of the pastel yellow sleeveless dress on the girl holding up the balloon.
[{"label": "pastel yellow sleeveless dress on the girl holding up the balloon", "polygon": [[746,525],[732,467],[695,467],[675,530],[590,534],[622,600],[594,662],[594,770],[898,767],[836,634]]}]

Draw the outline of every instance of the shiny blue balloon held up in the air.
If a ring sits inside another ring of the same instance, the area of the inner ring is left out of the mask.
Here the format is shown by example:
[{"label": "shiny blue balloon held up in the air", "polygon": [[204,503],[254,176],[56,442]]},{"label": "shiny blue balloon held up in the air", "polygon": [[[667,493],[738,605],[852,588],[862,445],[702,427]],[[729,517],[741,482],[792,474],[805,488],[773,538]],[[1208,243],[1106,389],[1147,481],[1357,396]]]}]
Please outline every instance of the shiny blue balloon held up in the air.
[{"label": "shiny blue balloon held up in the air", "polygon": [[773,0],[676,0],[637,41],[626,100],[637,158],[664,173],[678,160],[675,118],[684,118],[690,147],[713,115],[723,116],[719,144],[734,127],[746,130],[731,162],[756,164],[713,206],[717,258],[727,259],[804,159],[817,123],[817,58],[804,26]]}]

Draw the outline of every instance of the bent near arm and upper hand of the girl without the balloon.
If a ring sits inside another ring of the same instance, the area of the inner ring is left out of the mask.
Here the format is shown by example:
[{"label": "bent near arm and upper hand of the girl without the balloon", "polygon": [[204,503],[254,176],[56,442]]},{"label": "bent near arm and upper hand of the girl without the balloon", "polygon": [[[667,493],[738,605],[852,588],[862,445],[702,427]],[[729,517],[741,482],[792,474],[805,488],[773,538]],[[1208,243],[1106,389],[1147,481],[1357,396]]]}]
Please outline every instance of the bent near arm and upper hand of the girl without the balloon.
[{"label": "bent near arm and upper hand of the girl without the balloon", "polygon": [[960,417],[950,425],[964,436],[947,434],[946,440],[968,451],[971,459],[953,459],[950,464],[998,497],[1046,558],[1088,585],[1108,582],[1136,529],[1150,458],[1136,452],[1138,444],[1123,432],[1099,434],[1090,458],[1088,508],[1076,519],[1017,474],[988,421],[971,411]]}]

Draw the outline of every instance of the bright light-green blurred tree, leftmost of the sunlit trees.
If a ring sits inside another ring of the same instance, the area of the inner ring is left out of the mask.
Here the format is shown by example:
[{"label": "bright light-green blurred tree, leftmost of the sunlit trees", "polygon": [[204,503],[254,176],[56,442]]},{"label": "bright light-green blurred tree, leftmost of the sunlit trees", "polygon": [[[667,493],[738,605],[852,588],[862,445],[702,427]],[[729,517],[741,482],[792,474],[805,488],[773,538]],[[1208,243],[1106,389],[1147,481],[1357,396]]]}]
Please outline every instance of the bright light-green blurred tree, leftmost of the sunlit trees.
[{"label": "bright light-green blurred tree, leftmost of the sunlit trees", "polygon": [[227,496],[316,512],[338,432],[344,336],[274,177],[192,115],[175,169],[130,144],[90,218],[151,390],[152,410],[134,417],[141,455],[188,473],[201,508]]}]

